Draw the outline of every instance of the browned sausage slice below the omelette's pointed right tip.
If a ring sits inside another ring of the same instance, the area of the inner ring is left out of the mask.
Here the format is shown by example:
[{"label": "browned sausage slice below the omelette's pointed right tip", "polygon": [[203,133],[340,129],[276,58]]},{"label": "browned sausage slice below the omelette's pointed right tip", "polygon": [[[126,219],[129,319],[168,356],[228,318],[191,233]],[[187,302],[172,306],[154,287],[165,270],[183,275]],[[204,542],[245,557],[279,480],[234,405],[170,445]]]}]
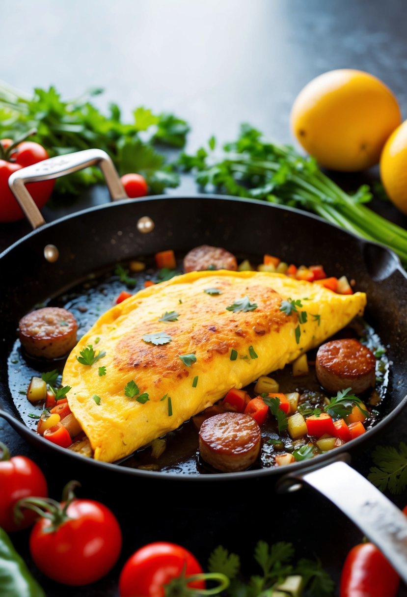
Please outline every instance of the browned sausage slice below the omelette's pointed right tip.
[{"label": "browned sausage slice below the omelette's pointed right tip", "polygon": [[326,342],[316,355],[317,378],[329,392],[347,387],[356,394],[365,392],[375,385],[375,369],[374,354],[355,338]]}]

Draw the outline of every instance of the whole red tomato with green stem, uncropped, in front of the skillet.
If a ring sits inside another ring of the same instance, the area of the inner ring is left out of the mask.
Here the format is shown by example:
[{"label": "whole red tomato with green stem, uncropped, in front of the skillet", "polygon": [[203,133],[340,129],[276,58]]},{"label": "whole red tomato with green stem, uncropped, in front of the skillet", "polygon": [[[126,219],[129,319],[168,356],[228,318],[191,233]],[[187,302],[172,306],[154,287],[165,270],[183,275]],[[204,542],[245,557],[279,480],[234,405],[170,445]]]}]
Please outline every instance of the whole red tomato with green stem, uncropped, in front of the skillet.
[{"label": "whole red tomato with green stem, uncropped, in front of the skillet", "polygon": [[[63,505],[63,504],[61,504]],[[30,535],[35,565],[58,583],[79,586],[93,583],[115,565],[122,547],[122,533],[109,508],[92,500],[73,500],[69,519],[55,531],[41,518]]]}]

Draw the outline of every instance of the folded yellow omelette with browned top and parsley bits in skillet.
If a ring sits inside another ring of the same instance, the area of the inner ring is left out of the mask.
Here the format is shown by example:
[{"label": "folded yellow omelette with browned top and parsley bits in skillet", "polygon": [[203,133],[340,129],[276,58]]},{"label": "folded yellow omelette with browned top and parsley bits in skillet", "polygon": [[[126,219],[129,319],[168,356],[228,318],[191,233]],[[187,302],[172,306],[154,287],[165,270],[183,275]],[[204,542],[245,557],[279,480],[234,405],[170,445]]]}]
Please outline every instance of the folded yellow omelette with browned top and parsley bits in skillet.
[{"label": "folded yellow omelette with browned top and parsley bits in skillet", "polygon": [[[318,346],[365,304],[364,293],[276,273],[177,276],[113,307],[81,338],[63,371],[69,406],[94,458],[118,460]],[[91,364],[78,361],[86,349]]]}]

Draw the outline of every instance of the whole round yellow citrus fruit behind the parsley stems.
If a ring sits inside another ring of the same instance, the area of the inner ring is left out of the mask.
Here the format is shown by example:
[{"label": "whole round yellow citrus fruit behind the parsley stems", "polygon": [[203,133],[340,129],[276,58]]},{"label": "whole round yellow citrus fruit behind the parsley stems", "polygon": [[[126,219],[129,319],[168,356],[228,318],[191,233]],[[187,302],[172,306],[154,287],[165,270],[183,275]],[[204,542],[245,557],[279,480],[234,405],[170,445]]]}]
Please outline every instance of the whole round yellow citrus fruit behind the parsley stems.
[{"label": "whole round yellow citrus fruit behind the parsley stems", "polygon": [[399,104],[390,89],[362,70],[331,70],[300,91],[291,128],[304,149],[331,170],[365,170],[380,159],[399,126]]}]

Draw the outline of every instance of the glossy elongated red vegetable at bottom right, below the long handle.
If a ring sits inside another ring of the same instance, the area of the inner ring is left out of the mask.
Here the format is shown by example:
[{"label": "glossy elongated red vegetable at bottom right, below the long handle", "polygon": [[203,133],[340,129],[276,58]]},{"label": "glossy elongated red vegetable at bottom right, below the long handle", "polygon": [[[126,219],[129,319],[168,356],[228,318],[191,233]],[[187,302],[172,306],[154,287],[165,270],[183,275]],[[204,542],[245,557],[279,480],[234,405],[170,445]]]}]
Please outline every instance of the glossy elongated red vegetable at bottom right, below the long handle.
[{"label": "glossy elongated red vegetable at bottom right, below the long handle", "polygon": [[395,597],[399,575],[373,543],[360,543],[347,555],[340,597]]}]

